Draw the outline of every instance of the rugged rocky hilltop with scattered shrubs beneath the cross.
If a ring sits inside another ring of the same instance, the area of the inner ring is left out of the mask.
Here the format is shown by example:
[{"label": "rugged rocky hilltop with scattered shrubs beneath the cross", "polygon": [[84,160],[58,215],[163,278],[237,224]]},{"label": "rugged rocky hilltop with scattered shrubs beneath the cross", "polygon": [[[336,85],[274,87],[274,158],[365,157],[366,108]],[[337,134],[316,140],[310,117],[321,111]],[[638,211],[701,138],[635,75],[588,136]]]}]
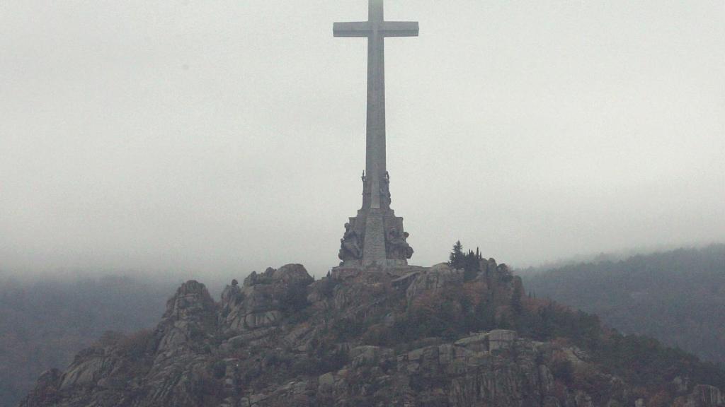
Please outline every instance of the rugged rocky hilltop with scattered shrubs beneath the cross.
[{"label": "rugged rocky hilltop with scattered shrubs beneath the cross", "polygon": [[318,281],[290,264],[219,302],[189,281],[155,330],[107,333],[20,406],[725,405],[718,367],[524,293],[493,259]]}]

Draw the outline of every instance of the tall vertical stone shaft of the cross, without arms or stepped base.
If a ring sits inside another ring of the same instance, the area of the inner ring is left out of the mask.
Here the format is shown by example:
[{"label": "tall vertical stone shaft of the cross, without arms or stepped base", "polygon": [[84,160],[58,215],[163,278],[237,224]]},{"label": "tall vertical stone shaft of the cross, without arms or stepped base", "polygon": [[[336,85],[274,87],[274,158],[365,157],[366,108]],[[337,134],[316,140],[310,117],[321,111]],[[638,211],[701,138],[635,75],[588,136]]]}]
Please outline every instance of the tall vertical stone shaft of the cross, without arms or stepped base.
[{"label": "tall vertical stone shaft of the cross, without arms or stepped base", "polygon": [[368,21],[368,122],[365,148],[365,172],[363,209],[381,207],[381,180],[386,172],[385,162],[385,44],[382,22],[383,0],[370,0]]}]

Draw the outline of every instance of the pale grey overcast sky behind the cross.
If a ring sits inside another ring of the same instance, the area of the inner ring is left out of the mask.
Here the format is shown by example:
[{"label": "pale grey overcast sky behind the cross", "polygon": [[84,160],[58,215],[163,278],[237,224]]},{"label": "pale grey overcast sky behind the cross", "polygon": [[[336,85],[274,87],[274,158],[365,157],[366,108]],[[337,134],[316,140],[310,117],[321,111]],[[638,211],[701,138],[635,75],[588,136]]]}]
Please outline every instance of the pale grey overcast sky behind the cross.
[{"label": "pale grey overcast sky behind the cross", "polygon": [[[725,240],[725,2],[389,0],[413,264]],[[0,1],[0,269],[334,267],[365,0]]]}]

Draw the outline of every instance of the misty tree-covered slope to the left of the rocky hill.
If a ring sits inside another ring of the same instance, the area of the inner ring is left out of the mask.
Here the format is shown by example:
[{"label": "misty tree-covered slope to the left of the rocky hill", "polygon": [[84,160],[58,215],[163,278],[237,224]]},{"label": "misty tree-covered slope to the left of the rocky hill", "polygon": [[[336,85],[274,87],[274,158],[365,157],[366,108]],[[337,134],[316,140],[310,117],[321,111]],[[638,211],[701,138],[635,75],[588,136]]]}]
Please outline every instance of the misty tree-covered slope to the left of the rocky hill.
[{"label": "misty tree-covered slope to the left of the rocky hill", "polygon": [[0,406],[16,406],[38,374],[67,366],[103,332],[152,327],[171,287],[128,277],[0,279]]}]

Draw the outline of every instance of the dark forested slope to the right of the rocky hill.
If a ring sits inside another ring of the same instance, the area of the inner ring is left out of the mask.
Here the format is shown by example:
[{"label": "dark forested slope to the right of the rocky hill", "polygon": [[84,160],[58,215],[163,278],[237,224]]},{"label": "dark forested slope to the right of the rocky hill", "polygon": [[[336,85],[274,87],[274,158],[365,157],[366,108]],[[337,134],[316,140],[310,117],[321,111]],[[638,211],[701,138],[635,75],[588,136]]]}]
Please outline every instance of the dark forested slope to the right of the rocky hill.
[{"label": "dark forested slope to the right of the rocky hill", "polygon": [[538,298],[725,363],[725,246],[571,264],[524,280]]}]

